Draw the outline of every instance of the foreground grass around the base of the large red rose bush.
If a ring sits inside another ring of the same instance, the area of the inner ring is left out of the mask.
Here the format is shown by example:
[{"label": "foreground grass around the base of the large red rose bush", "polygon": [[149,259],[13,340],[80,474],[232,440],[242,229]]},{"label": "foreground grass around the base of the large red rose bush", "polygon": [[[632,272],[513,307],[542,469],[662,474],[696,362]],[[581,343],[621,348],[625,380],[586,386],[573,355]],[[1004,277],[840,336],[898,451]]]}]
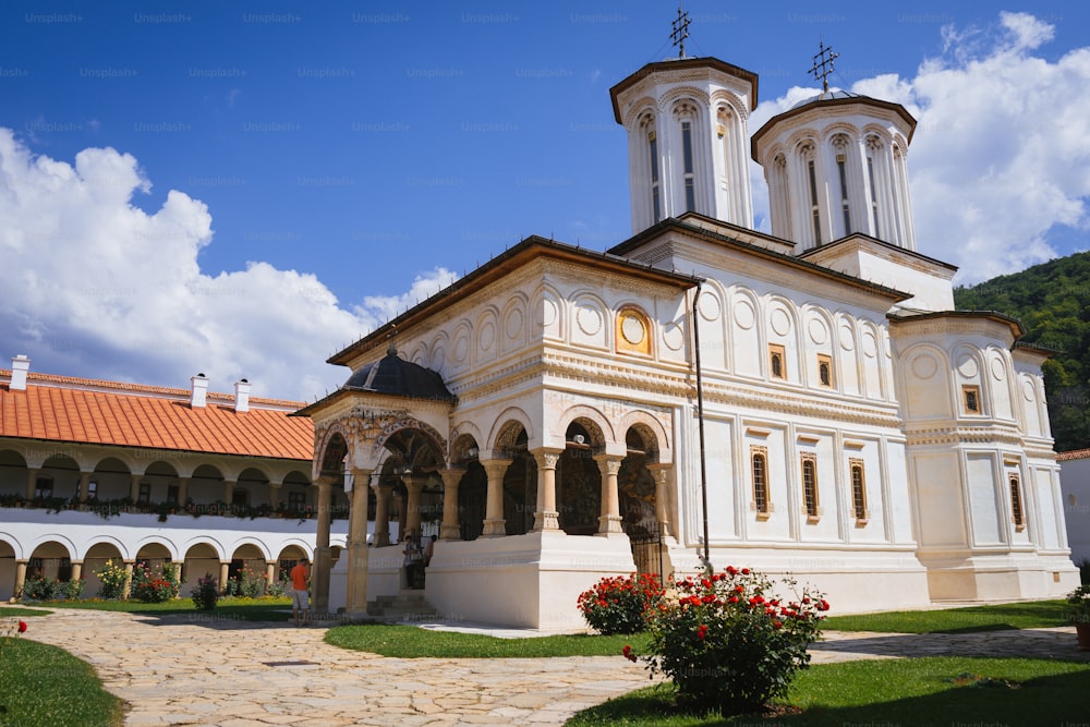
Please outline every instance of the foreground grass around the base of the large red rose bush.
[{"label": "foreground grass around the base of the large red rose bush", "polygon": [[764,715],[679,714],[670,684],[585,710],[568,725],[1064,725],[1090,715],[1090,664],[929,657],[824,664]]}]

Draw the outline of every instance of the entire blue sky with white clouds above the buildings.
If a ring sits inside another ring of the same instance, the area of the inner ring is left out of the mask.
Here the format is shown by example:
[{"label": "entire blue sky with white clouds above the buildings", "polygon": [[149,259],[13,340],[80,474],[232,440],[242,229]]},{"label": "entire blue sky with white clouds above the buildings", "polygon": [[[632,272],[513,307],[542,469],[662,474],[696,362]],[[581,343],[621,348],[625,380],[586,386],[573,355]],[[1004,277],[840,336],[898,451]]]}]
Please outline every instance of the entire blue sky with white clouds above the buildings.
[{"label": "entire blue sky with white clouds above the buildings", "polygon": [[[921,252],[965,282],[1086,247],[1090,11],[686,3],[760,75],[905,104]],[[529,234],[631,234],[608,89],[671,3],[5,2],[0,366],[312,399],[326,356]],[[994,108],[993,108],[994,106]],[[996,108],[1001,111],[996,112]],[[96,149],[99,149],[96,152]],[[766,194],[754,168],[758,227]]]}]

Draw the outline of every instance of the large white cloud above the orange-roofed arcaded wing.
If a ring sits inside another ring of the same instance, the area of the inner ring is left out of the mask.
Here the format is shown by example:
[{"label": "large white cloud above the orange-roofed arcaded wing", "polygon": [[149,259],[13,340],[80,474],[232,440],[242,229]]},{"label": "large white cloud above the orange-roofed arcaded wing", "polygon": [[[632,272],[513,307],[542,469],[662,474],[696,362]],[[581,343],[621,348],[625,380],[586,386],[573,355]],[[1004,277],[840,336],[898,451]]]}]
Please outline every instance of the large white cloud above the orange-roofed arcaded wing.
[{"label": "large white cloud above the orange-roofed arcaded wing", "polygon": [[435,270],[348,311],[315,276],[266,263],[211,277],[197,263],[213,241],[207,207],[171,191],[145,213],[133,196],[150,186],[131,155],[84,149],[69,165],[0,129],[4,355],[175,387],[199,371],[220,391],[246,377],[257,396],[313,399],[348,376],[324,363],[337,347],[456,278]]}]

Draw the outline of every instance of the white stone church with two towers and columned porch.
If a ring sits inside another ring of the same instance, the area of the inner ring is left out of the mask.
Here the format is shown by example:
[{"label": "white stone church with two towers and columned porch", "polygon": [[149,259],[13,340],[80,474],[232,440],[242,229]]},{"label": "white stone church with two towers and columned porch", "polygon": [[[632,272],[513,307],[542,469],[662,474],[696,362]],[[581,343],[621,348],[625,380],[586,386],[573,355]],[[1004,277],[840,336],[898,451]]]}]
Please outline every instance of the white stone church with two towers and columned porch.
[{"label": "white stone church with two towers and columned porch", "polygon": [[[415,586],[449,616],[580,626],[597,579],[691,573],[705,547],[844,610],[1078,582],[1046,353],[955,311],[955,268],[916,251],[915,119],[826,90],[751,135],[756,86],[714,58],[640,69],[610,90],[633,237],[523,240],[329,359],[344,386],[299,412],[319,512],[351,500],[336,567],[318,521],[319,608]],[[407,534],[439,538],[423,579],[384,524],[397,492]]]}]

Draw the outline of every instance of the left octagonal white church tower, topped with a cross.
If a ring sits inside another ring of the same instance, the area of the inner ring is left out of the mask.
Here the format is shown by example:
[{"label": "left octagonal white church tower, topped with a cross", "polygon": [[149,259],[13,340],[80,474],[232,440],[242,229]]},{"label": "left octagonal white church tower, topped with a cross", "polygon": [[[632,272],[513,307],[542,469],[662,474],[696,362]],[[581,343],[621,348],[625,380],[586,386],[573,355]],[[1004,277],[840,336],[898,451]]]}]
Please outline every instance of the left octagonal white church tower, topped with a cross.
[{"label": "left octagonal white church tower, topped with a cross", "polygon": [[649,63],[609,89],[628,132],[632,233],[687,211],[753,227],[749,114],[756,74],[715,58],[686,58],[679,11],[676,59]]}]

